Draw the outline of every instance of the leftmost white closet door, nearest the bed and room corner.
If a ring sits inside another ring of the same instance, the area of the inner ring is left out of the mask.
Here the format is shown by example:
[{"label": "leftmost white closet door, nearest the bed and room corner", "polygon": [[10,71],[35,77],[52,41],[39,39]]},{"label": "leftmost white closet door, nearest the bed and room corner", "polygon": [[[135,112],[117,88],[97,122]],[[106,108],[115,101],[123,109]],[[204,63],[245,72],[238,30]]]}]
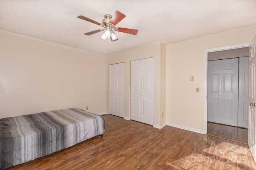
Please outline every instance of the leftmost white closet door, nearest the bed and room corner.
[{"label": "leftmost white closet door, nearest the bed and room corner", "polygon": [[124,63],[108,66],[108,113],[124,117]]}]

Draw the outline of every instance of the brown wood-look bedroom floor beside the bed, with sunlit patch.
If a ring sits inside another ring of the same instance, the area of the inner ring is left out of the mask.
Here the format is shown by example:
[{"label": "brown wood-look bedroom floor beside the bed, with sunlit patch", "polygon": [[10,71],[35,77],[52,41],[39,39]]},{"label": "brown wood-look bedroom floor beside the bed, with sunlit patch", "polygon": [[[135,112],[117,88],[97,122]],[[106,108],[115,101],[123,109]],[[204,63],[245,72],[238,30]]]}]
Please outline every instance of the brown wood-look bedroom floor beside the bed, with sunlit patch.
[{"label": "brown wood-look bedroom floor beside the bed, with sunlit patch", "polygon": [[248,145],[170,126],[156,129],[113,115],[103,117],[103,137],[9,169],[256,169]]}]

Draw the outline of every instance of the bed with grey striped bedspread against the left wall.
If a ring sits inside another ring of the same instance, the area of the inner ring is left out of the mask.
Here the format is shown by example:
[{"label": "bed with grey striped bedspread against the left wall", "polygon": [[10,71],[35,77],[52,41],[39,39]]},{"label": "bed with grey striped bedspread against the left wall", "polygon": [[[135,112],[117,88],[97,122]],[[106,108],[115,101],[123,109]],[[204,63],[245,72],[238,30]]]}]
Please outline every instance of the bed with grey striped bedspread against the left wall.
[{"label": "bed with grey striped bedspread against the left wall", "polygon": [[0,169],[103,135],[104,119],[71,108],[0,119]]}]

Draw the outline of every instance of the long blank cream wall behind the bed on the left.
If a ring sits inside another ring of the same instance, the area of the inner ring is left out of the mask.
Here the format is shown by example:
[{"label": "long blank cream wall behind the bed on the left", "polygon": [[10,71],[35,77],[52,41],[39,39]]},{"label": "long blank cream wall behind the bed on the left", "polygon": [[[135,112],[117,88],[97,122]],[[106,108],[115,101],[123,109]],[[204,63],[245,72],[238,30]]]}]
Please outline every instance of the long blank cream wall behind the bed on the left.
[{"label": "long blank cream wall behind the bed on the left", "polygon": [[0,30],[0,118],[106,112],[106,56]]}]

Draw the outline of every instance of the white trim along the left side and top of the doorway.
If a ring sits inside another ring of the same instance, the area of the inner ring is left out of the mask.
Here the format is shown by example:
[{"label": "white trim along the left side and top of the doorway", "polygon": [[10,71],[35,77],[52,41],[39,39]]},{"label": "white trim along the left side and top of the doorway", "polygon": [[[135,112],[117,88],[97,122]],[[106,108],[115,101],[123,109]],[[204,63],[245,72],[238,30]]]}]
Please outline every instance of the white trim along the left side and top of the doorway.
[{"label": "white trim along the left side and top of the doorway", "polygon": [[243,44],[237,44],[237,45],[230,45],[230,46],[224,46],[224,47],[217,47],[212,49],[205,49],[204,50],[204,111],[203,111],[203,134],[207,133],[207,69],[208,69],[208,53],[216,52],[216,51],[224,51],[224,50],[230,50],[230,49],[240,49],[244,47],[250,47],[253,43],[243,43]]}]

